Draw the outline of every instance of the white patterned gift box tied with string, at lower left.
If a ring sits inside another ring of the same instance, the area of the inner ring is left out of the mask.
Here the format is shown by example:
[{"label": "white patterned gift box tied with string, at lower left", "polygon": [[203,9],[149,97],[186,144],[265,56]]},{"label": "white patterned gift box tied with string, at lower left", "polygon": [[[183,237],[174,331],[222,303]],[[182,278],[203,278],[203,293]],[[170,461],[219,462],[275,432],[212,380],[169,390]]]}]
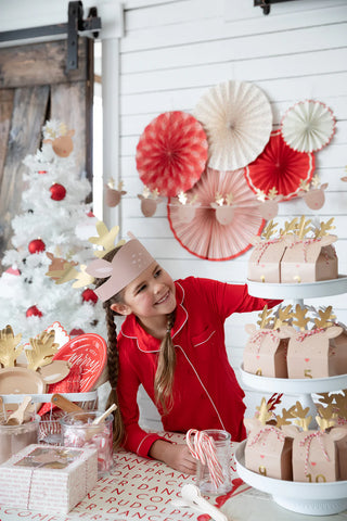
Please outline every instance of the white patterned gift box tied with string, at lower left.
[{"label": "white patterned gift box tied with string, at lower left", "polygon": [[94,448],[28,445],[0,466],[0,503],[67,513],[98,480]]}]

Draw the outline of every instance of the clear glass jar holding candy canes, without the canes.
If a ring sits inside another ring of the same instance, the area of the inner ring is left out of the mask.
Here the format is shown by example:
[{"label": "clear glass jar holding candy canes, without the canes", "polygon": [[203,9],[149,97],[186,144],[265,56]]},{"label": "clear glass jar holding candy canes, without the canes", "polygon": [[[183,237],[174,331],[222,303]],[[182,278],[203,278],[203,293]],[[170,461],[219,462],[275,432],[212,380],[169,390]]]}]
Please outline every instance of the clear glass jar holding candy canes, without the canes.
[{"label": "clear glass jar holding candy canes, without the canes", "polygon": [[196,466],[196,481],[197,486],[203,494],[227,494],[231,491],[231,435],[229,432],[219,429],[209,429],[203,431],[210,439],[213,439],[216,447],[216,457],[220,463],[223,481],[216,486],[213,476],[210,475],[207,465],[203,465],[197,460]]}]

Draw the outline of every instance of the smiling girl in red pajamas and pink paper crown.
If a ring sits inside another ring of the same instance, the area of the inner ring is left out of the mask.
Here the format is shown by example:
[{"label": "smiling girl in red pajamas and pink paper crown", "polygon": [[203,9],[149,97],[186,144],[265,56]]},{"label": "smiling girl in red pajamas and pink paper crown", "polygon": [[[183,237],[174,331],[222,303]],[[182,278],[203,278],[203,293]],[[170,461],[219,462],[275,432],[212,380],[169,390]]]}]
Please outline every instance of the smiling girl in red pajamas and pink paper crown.
[{"label": "smiling girl in red pajamas and pink paper crown", "polygon": [[[172,444],[139,427],[142,384],[167,431],[223,429],[245,437],[245,406],[224,345],[224,320],[233,313],[272,307],[280,301],[249,296],[246,285],[189,277],[174,282],[145,247],[131,239],[93,260],[95,293],[106,310],[108,402],[118,402],[115,445],[171,468],[195,473],[185,444]],[[115,315],[126,320],[117,339]]]}]

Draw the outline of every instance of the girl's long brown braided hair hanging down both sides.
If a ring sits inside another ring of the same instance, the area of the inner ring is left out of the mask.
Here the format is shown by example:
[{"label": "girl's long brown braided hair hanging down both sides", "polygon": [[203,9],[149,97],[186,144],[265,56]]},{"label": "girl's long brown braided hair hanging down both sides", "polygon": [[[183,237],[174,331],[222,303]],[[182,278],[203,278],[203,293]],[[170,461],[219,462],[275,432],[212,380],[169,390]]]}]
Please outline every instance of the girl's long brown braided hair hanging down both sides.
[{"label": "girl's long brown braided hair hanging down both sides", "polygon": [[[117,254],[118,250],[121,246],[115,247],[111,252],[104,255],[104,259],[111,262],[113,257]],[[95,287],[100,287],[105,282],[105,279],[97,279]],[[118,397],[117,397],[117,382],[119,374],[119,357],[117,350],[117,328],[115,325],[114,317],[119,315],[114,312],[111,306],[112,304],[124,303],[124,290],[119,291],[116,295],[108,298],[103,303],[103,307],[106,314],[106,326],[107,326],[107,366],[108,366],[108,380],[111,383],[111,393],[107,399],[107,407],[112,404],[116,404],[118,407],[115,410],[114,419],[114,447],[118,448],[125,436],[125,428],[121,419]],[[175,323],[175,312],[168,315],[166,334],[162,341],[157,370],[154,378],[154,394],[155,399],[158,405],[162,406],[163,411],[167,411],[172,407],[172,385],[174,385],[174,376],[176,367],[176,352],[174,342],[171,339],[171,329]]]}]

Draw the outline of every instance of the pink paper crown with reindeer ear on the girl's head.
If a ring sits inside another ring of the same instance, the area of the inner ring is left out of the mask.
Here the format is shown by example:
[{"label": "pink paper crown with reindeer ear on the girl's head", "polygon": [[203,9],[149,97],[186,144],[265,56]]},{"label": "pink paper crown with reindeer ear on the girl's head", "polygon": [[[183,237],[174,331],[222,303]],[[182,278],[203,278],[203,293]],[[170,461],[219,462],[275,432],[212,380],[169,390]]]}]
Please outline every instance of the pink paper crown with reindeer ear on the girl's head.
[{"label": "pink paper crown with reindeer ear on the girl's head", "polygon": [[94,290],[99,298],[105,302],[139,277],[154,260],[138,239],[131,239],[120,247],[111,263],[98,258],[90,263],[86,271],[99,279],[108,277],[106,282]]}]

